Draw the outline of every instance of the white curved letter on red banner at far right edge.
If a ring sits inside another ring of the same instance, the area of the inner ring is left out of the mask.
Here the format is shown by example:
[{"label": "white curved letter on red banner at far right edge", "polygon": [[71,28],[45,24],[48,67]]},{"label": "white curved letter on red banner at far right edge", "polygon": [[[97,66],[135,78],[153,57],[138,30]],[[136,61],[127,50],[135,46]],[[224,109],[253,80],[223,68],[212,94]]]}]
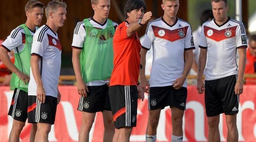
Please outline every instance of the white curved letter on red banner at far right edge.
[{"label": "white curved letter on red banner at far right edge", "polygon": [[[237,117],[237,128],[238,128],[238,140],[239,141],[245,141],[245,139],[243,138],[243,133],[242,133],[242,113],[243,113],[243,110],[246,110],[246,109],[251,109],[254,111],[254,103],[253,101],[245,101],[243,103],[243,105],[241,106],[239,104],[239,108],[240,111],[238,112],[238,117]],[[256,137],[256,135],[254,134],[254,137]]]}]

